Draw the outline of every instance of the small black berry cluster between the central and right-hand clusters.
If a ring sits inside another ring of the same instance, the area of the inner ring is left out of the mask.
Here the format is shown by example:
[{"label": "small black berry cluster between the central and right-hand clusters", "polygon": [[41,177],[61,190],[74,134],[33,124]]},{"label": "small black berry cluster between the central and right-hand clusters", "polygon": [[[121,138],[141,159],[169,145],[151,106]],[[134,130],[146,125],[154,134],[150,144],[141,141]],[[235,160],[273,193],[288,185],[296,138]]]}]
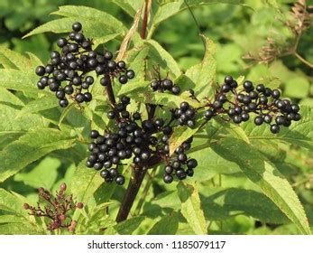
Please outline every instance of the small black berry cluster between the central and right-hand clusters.
[{"label": "small black berry cluster between the central and right-hand clusters", "polygon": [[174,117],[177,119],[180,126],[196,126],[197,110],[192,108],[188,102],[181,102],[180,108],[175,109]]}]

